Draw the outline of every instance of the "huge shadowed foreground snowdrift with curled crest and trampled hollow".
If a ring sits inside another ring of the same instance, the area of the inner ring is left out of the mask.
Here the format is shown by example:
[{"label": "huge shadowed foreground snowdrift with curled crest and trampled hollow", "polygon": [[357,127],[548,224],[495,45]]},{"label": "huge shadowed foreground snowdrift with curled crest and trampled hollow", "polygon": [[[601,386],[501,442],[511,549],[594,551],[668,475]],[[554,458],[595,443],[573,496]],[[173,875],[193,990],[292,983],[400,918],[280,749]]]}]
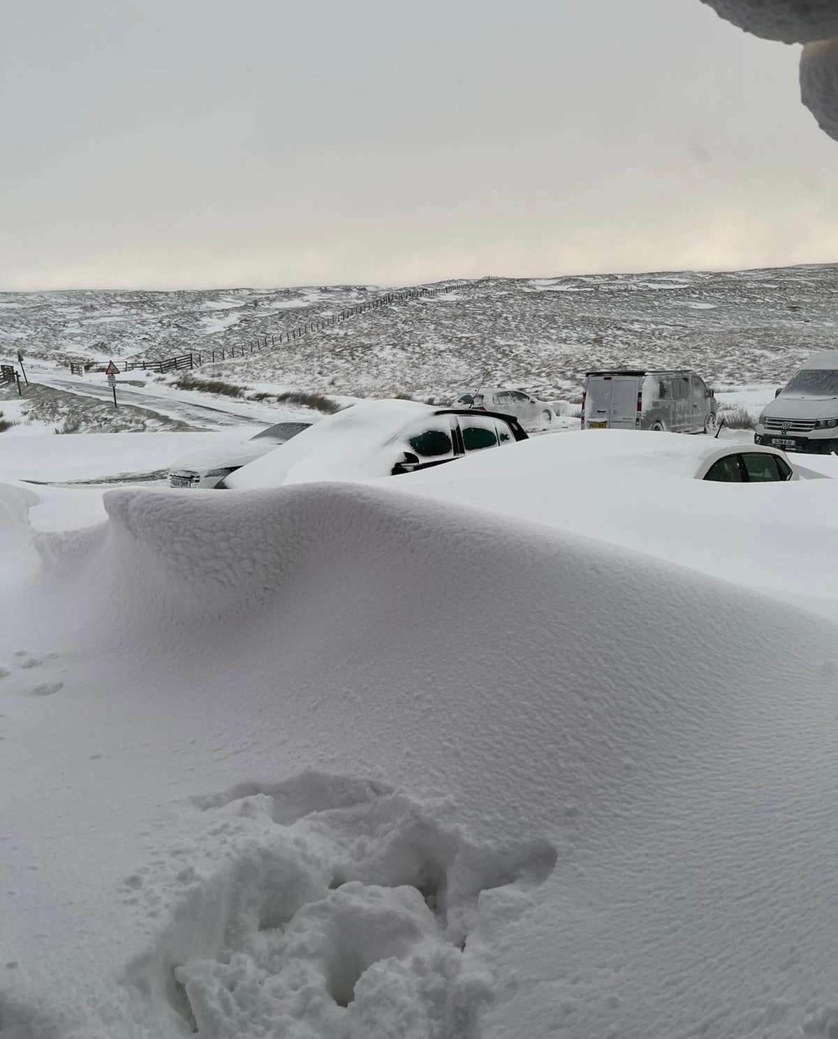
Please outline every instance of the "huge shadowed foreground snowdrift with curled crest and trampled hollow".
[{"label": "huge shadowed foreground snowdrift with curled crest and trampled hollow", "polygon": [[2,489],[3,1039],[834,1034],[835,624],[398,486]]}]

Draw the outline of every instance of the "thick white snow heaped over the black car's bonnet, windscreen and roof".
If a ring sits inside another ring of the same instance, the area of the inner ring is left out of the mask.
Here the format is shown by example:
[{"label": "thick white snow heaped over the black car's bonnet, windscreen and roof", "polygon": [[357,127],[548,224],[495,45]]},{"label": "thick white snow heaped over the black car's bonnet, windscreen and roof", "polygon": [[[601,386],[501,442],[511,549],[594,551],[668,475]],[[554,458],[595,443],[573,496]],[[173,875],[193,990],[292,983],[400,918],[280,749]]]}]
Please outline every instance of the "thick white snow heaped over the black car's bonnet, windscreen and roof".
[{"label": "thick white snow heaped over the black car's bonnet, windscreen and roof", "polygon": [[[321,419],[293,439],[232,473],[229,487],[277,487],[303,480],[384,476],[395,461],[386,445],[437,410],[413,400],[370,400]],[[395,452],[396,454],[398,452]]]}]

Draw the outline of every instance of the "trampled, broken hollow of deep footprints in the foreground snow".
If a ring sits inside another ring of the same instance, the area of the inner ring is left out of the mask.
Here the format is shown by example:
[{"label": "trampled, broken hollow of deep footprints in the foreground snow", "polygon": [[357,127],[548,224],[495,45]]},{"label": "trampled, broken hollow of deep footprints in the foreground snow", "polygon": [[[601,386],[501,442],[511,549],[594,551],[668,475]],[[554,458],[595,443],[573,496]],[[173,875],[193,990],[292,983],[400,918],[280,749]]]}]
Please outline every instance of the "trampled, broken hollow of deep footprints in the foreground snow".
[{"label": "trampled, broken hollow of deep footprints in the foreground snow", "polygon": [[[202,1035],[293,1019],[365,1039],[415,1019],[425,1028],[411,1036],[477,1039],[497,990],[469,936],[492,889],[505,914],[531,904],[555,865],[548,842],[473,842],[436,804],[313,772],[193,804],[210,816],[194,853],[214,871],[195,884],[182,871],[180,891],[174,874],[164,882],[169,922],[128,968],[137,998]],[[264,979],[255,993],[242,970]]]}]

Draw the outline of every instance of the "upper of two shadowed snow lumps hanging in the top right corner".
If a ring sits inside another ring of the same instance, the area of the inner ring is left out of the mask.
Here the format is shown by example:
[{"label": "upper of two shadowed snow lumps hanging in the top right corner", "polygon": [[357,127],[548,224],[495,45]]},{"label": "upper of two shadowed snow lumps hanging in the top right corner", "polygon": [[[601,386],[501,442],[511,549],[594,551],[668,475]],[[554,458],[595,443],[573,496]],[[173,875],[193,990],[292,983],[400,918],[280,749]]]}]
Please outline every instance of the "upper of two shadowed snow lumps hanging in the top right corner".
[{"label": "upper of two shadowed snow lumps hanging in the top right corner", "polygon": [[834,0],[702,0],[745,32],[783,44],[838,36]]}]

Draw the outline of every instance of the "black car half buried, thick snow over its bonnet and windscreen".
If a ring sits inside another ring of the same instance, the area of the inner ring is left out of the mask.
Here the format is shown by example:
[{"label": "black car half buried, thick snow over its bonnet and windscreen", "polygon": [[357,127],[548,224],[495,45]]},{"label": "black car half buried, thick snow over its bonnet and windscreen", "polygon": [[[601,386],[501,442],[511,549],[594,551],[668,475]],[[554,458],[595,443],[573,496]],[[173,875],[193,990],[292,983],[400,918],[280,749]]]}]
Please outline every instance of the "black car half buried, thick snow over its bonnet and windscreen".
[{"label": "black car half buried, thick snow over its bonnet and windscreen", "polygon": [[398,476],[527,439],[517,419],[416,401],[364,401],[231,473],[227,487]]}]

